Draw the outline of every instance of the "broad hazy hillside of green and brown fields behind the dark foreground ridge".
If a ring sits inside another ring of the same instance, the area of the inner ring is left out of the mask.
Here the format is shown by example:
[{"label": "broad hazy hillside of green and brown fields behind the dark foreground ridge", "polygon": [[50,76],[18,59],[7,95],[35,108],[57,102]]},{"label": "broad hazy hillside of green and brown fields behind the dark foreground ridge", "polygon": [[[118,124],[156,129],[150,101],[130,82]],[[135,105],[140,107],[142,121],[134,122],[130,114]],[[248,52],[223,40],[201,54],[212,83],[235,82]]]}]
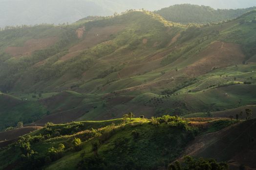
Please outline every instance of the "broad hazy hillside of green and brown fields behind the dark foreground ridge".
[{"label": "broad hazy hillside of green and brown fields behind the dark foreground ridge", "polygon": [[1,126],[255,105],[255,17],[252,11],[188,28],[131,10],[72,25],[0,31],[0,90],[21,103],[0,103]]}]

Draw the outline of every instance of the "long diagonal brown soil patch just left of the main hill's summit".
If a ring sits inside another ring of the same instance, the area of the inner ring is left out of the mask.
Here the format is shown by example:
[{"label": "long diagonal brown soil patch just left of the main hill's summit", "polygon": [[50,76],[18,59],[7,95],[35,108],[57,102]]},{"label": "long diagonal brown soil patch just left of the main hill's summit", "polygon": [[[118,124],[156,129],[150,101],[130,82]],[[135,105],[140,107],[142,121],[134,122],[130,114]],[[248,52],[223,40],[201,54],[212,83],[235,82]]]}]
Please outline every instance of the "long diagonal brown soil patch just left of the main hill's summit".
[{"label": "long diagonal brown soil patch just left of the main hill's summit", "polygon": [[107,27],[95,27],[85,33],[85,39],[69,49],[69,53],[64,55],[61,60],[65,61],[80,54],[81,51],[107,41],[111,34],[117,34],[125,29],[125,25],[115,25]]}]

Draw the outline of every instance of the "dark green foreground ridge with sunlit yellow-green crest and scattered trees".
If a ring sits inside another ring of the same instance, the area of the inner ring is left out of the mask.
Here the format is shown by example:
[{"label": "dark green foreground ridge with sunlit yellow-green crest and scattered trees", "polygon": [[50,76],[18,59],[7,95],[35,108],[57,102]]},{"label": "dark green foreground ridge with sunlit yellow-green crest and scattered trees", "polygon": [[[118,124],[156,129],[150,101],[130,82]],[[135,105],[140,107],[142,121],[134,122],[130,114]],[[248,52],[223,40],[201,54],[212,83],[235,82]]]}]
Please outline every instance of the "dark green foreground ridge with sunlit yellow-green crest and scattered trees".
[{"label": "dark green foreground ridge with sunlit yellow-green crest and scattered trees", "polygon": [[[186,119],[165,116],[157,118],[156,121],[160,124],[140,118],[127,121],[116,119],[47,124],[43,129],[21,137],[16,145],[2,149],[0,168],[21,170],[164,168],[184,152],[194,136],[209,133],[210,129],[211,132],[219,131],[232,124],[232,121],[227,119],[208,119],[203,120],[207,128],[198,126],[197,129],[196,124],[200,124],[201,120],[189,122]],[[222,123],[223,126],[218,127],[217,123]],[[74,144],[75,138],[81,140],[79,142],[77,139],[78,145]]]}]

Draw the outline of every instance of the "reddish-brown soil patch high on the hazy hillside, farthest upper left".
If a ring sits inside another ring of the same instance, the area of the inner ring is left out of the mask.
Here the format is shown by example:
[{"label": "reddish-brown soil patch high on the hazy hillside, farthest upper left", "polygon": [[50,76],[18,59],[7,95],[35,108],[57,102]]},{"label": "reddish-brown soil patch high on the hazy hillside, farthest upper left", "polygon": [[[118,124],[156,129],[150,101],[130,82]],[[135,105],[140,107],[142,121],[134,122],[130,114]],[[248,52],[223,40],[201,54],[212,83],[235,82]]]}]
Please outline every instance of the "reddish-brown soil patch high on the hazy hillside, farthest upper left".
[{"label": "reddish-brown soil patch high on the hazy hillside, farthest upper left", "polygon": [[31,55],[36,50],[42,50],[55,44],[57,40],[57,37],[30,39],[24,43],[23,47],[7,47],[5,52],[15,57]]}]

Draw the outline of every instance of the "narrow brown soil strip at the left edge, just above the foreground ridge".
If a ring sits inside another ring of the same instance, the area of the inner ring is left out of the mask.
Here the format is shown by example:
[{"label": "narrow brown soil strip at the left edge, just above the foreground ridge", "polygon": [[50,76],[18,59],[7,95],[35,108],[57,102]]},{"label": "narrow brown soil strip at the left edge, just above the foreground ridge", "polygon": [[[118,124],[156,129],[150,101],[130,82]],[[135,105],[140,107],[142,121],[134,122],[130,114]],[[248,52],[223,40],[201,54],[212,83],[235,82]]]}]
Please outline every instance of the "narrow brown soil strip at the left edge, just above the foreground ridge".
[{"label": "narrow brown soil strip at the left edge, just above the foreground ridge", "polygon": [[42,128],[43,127],[41,126],[30,126],[30,127],[23,127],[19,129],[10,130],[7,132],[0,132],[0,141],[16,139],[19,136],[23,136],[25,134],[28,134],[30,132],[33,132]]}]

